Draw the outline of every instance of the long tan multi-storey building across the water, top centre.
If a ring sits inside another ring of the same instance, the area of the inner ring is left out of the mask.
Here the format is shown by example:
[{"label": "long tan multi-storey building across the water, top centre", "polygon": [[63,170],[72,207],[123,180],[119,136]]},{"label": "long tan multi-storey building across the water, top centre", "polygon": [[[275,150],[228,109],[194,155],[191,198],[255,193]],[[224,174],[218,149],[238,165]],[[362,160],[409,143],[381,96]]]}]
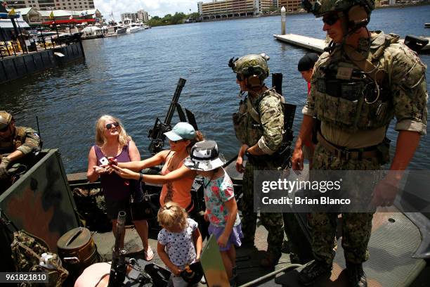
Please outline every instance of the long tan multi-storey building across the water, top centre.
[{"label": "long tan multi-storey building across the water, top centre", "polygon": [[203,3],[197,7],[202,20],[256,16],[268,11],[273,0],[224,0]]}]

